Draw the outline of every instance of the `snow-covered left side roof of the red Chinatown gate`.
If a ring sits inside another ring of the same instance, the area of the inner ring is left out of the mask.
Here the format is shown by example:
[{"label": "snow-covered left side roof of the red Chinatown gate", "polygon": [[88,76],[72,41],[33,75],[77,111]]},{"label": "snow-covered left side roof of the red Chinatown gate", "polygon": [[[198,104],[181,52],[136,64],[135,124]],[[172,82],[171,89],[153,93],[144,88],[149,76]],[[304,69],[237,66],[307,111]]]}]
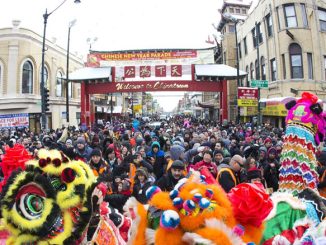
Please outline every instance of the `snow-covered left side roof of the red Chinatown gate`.
[{"label": "snow-covered left side roof of the red Chinatown gate", "polygon": [[100,79],[108,79],[109,81],[112,81],[111,67],[84,67],[69,73],[69,81],[72,82]]}]

